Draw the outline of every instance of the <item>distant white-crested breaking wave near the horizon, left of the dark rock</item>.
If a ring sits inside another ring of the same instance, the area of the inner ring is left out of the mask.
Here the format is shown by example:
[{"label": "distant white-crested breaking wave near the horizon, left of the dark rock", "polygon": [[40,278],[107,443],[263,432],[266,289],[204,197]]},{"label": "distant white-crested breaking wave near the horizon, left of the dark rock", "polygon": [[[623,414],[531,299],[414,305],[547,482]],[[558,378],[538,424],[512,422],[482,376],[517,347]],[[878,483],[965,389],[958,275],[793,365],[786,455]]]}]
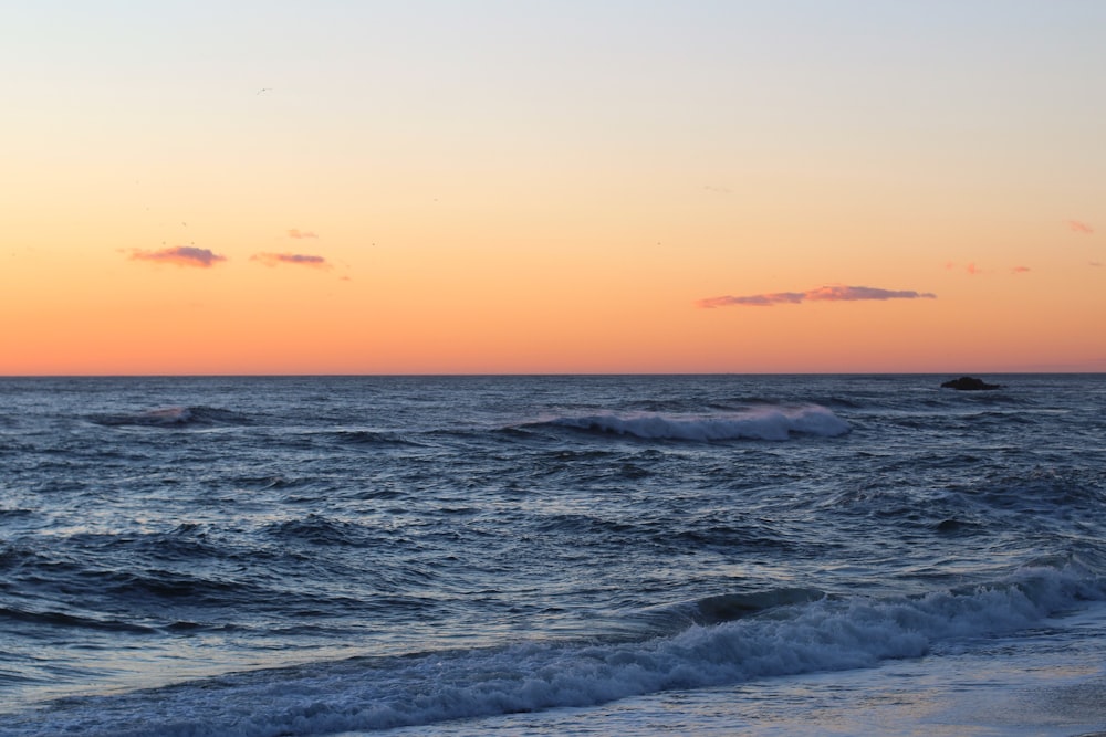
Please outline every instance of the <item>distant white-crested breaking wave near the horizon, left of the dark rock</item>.
[{"label": "distant white-crested breaking wave near the horizon, left of the dark rock", "polygon": [[848,423],[821,404],[754,407],[726,414],[630,415],[593,414],[551,420],[545,424],[591,432],[633,435],[645,440],[787,440],[793,434],[832,438],[849,431]]}]

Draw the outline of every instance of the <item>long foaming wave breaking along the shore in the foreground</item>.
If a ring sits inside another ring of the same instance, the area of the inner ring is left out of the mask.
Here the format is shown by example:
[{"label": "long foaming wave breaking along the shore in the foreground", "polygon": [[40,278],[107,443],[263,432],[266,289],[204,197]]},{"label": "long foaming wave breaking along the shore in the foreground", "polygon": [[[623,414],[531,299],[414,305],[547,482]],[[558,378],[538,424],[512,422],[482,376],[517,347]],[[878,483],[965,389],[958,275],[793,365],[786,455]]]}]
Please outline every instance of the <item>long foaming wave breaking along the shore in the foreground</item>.
[{"label": "long foaming wave breaking along the shore in the foreground", "polygon": [[989,586],[918,597],[785,589],[708,598],[695,609],[709,623],[644,641],[534,641],[229,674],[53,702],[7,715],[6,734],[325,735],[585,707],[920,657],[942,641],[1010,635],[1104,598],[1102,581],[1079,566],[1047,561]]}]

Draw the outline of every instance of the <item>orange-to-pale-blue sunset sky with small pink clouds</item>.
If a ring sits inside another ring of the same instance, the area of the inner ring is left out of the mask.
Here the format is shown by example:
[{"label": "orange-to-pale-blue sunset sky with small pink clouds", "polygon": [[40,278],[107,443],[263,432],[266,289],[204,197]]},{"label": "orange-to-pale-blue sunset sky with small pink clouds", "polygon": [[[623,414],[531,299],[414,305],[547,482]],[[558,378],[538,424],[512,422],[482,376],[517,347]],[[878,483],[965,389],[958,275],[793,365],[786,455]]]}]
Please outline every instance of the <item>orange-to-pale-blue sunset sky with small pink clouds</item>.
[{"label": "orange-to-pale-blue sunset sky with small pink clouds", "polygon": [[1106,371],[1106,2],[0,8],[0,375]]}]

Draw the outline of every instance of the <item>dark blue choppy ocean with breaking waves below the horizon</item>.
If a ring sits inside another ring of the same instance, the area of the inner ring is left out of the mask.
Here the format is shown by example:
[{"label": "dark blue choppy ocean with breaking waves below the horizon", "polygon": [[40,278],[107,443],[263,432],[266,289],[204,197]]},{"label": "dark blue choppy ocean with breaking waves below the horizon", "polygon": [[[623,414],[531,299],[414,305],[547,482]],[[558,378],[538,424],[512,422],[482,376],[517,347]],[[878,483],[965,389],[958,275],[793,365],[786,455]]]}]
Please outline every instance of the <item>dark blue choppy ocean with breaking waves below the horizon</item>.
[{"label": "dark blue choppy ocean with breaking waves below the horizon", "polygon": [[1106,376],[0,379],[0,735],[1106,730]]}]

